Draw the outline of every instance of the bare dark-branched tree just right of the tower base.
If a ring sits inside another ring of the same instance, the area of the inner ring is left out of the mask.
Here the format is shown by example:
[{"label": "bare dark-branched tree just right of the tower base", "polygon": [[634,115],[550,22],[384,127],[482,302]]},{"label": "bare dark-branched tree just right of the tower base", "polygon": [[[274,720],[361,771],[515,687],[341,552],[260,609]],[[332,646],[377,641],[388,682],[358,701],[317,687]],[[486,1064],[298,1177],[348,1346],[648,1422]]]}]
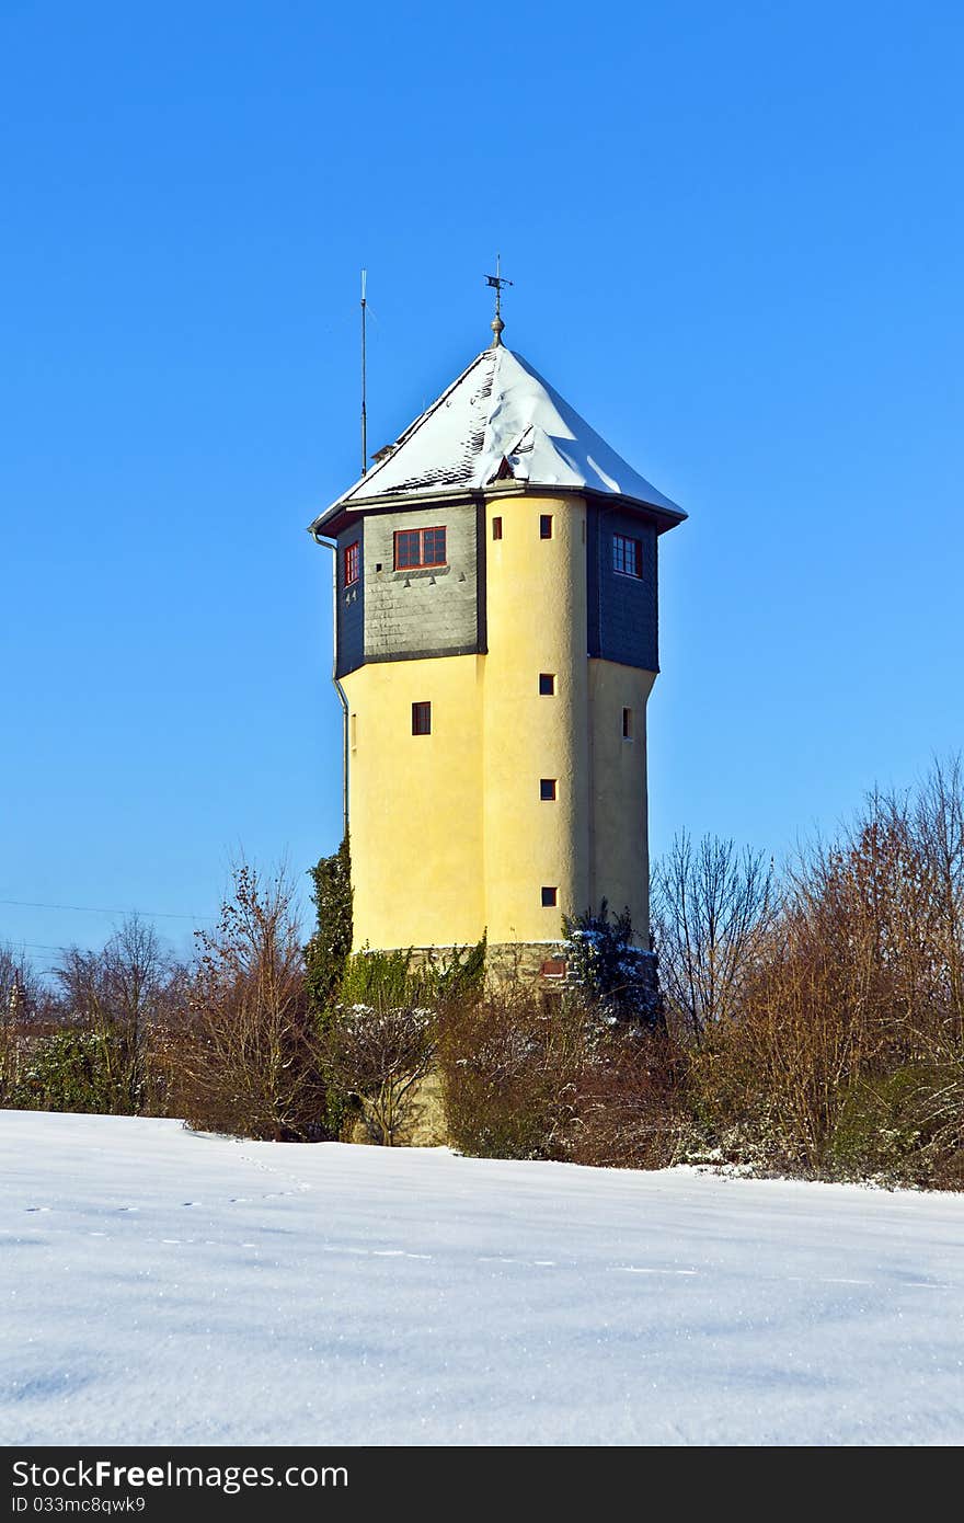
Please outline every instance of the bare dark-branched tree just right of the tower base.
[{"label": "bare dark-branched tree just right of the tower base", "polygon": [[737,1014],[777,909],[772,864],[733,841],[684,832],[656,864],[652,924],[669,1014],[696,1040]]}]

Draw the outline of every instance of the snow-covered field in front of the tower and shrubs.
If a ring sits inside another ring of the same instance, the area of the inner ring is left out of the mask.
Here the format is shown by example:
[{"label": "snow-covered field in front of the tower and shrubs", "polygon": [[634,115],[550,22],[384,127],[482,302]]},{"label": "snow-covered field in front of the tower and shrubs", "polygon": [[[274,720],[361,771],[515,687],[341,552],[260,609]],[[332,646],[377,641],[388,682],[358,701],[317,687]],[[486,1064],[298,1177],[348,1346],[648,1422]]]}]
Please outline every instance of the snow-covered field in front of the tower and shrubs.
[{"label": "snow-covered field in front of the tower and shrubs", "polygon": [[0,1441],[959,1444],[964,1197],[0,1112]]}]

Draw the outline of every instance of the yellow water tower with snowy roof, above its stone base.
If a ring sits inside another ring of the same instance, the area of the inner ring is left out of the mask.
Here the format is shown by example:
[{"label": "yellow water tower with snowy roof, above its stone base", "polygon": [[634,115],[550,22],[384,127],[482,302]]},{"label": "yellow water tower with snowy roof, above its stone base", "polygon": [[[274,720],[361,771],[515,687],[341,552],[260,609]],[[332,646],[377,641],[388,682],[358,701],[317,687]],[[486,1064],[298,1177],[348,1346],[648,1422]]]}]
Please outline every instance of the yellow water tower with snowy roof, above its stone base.
[{"label": "yellow water tower with snowy roof, above its stone base", "polygon": [[603,899],[649,943],[658,542],[685,513],[492,332],[311,533],[335,554],[355,950],[487,935],[490,966],[521,946],[556,976],[563,915]]}]

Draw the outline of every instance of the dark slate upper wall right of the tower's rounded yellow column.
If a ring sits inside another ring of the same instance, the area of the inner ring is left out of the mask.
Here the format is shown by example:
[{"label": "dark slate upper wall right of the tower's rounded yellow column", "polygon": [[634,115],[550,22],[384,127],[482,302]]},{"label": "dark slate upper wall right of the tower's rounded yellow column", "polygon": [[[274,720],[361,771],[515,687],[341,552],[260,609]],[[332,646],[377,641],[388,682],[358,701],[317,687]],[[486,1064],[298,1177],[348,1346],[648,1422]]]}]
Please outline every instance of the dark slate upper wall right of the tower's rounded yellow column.
[{"label": "dark slate upper wall right of the tower's rounded yellow column", "polygon": [[[624,576],[614,568],[614,535],[641,544],[641,577]],[[638,513],[589,503],[586,577],[589,655],[658,672],[656,525]]]}]

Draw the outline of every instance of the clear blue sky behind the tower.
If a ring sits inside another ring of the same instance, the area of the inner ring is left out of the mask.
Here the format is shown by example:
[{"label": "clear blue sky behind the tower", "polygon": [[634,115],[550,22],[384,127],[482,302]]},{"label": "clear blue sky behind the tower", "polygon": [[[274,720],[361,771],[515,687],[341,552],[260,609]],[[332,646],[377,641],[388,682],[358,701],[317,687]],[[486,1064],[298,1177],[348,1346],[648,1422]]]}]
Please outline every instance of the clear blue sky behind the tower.
[{"label": "clear blue sky behind the tower", "polygon": [[356,474],[362,265],[372,448],[486,346],[501,250],[506,341],[688,510],[655,850],[781,854],[958,749],[962,43],[952,3],[0,0],[0,938],[183,947],[238,851],[337,845],[305,525]]}]

